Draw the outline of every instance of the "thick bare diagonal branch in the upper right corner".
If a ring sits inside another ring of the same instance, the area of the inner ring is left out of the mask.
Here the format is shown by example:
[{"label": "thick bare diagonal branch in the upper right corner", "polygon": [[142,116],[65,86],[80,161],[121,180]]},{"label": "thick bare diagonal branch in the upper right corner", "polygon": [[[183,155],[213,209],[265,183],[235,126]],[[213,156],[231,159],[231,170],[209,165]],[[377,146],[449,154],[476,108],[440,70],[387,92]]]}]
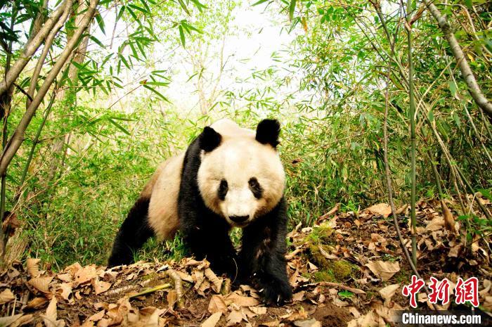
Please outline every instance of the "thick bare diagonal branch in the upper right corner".
[{"label": "thick bare diagonal branch in the upper right corner", "polygon": [[448,20],[446,20],[446,15],[442,15],[439,9],[434,4],[432,4],[431,0],[424,0],[424,2],[430,13],[432,13],[434,18],[437,20],[439,27],[444,33],[444,37],[446,37],[446,40],[448,40],[451,52],[455,56],[456,63],[458,63],[460,67],[461,74],[463,76],[463,79],[465,79],[470,95],[472,96],[475,103],[477,103],[477,105],[482,110],[484,110],[488,117],[492,118],[492,103],[488,101],[488,99],[482,93],[480,86],[477,83],[477,79],[475,79],[473,75],[472,68],[470,68],[470,65],[468,65],[465,53],[463,53],[461,46],[458,43],[455,34],[453,33],[453,30],[451,30],[451,25],[449,25]]}]

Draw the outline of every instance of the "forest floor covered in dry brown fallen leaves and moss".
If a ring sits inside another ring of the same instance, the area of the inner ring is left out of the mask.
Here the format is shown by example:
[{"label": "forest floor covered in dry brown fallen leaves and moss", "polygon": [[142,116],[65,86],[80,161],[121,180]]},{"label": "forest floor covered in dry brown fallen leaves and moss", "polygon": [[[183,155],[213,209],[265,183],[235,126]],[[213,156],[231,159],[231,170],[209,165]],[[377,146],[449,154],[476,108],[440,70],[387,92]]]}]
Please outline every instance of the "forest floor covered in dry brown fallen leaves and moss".
[{"label": "forest floor covered in dry brown fallen leaves and moss", "polygon": [[[490,208],[488,200],[483,204]],[[452,203],[448,203],[452,208]],[[400,228],[408,240],[408,207]],[[250,286],[231,290],[208,262],[137,262],[106,269],[75,263],[40,271],[38,259],[15,262],[0,276],[0,326],[387,326],[394,311],[409,308],[401,290],[413,274],[403,257],[386,204],[338,213],[288,235],[287,270],[292,302],[264,307]],[[452,211],[452,210],[451,210]],[[479,279],[480,309],[492,311],[490,244],[465,243],[460,222],[446,229],[439,201],[417,205],[417,268],[422,278]],[[470,243],[471,242],[471,243]],[[409,242],[410,243],[410,242]],[[410,249],[410,244],[408,244]],[[453,289],[453,288],[451,288]],[[418,295],[421,309],[430,307]],[[438,309],[470,309],[451,301]]]}]

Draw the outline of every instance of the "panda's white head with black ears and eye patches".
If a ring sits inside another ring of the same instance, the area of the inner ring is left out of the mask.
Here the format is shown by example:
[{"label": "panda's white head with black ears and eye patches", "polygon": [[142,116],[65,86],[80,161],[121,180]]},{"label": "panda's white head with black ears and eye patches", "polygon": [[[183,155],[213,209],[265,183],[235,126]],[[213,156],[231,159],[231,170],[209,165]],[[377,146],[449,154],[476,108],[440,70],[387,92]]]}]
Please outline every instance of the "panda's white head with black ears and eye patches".
[{"label": "panda's white head with black ears and eye patches", "polygon": [[276,150],[279,133],[277,120],[262,120],[256,132],[222,120],[200,134],[200,194],[205,205],[231,226],[247,226],[283,197],[285,172]]}]

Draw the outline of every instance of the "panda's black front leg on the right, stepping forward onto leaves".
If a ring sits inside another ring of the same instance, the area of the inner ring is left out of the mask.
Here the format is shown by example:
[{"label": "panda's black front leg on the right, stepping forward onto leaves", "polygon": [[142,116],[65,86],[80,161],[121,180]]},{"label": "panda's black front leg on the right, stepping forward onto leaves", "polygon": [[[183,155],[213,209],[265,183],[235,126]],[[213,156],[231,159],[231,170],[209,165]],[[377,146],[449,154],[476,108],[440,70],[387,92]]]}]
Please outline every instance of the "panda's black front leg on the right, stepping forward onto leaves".
[{"label": "panda's black front leg on the right, stepping forward onto leaves", "polygon": [[242,281],[252,281],[267,304],[282,305],[292,299],[287,277],[285,200],[242,231],[240,271]]}]

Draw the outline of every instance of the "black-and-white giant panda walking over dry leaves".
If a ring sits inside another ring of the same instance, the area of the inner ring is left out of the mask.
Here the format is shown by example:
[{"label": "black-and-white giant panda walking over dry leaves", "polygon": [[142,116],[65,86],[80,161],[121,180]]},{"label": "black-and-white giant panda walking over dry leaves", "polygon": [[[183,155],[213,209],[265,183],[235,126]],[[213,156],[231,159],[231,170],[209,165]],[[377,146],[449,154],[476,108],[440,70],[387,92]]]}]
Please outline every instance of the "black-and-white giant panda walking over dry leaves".
[{"label": "black-and-white giant panda walking over dry leaves", "polygon": [[[238,283],[251,283],[268,304],[292,298],[285,262],[285,172],[277,151],[280,124],[256,131],[219,120],[185,153],[157,168],[120,227],[108,266],[129,264],[151,236],[181,231],[197,259]],[[236,253],[228,232],[242,228]]]}]

